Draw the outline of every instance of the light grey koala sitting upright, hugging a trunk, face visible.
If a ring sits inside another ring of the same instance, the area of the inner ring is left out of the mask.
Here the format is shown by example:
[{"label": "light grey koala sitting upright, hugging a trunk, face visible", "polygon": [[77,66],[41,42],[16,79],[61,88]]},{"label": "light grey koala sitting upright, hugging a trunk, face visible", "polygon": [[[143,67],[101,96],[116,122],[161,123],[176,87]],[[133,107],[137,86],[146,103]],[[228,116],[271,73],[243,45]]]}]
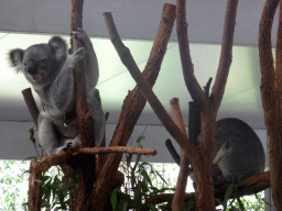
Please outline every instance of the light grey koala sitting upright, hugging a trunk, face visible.
[{"label": "light grey koala sitting upright, hugging a trunk, face visible", "polygon": [[93,44],[83,29],[76,29],[72,34],[84,43],[84,47],[72,55],[68,55],[66,42],[59,36],[53,36],[45,44],[9,53],[11,65],[24,75],[41,99],[39,136],[40,144],[48,154],[80,145],[75,118],[73,73],[75,65],[84,58],[87,103],[94,118],[96,146],[100,145],[106,126],[101,106],[94,96],[99,71]]}]

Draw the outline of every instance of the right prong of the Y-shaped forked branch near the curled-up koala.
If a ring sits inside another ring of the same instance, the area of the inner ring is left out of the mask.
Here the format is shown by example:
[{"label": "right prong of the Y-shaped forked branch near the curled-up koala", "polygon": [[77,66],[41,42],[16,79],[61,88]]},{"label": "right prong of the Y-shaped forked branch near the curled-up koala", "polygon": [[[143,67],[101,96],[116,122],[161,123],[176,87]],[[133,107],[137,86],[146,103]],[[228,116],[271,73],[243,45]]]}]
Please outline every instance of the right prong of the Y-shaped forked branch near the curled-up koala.
[{"label": "right prong of the Y-shaped forked branch near the curled-up koala", "polygon": [[234,32],[236,24],[238,0],[228,0],[225,15],[219,66],[216,74],[215,85],[210,95],[214,110],[217,112],[224,97],[229,68],[232,63]]}]

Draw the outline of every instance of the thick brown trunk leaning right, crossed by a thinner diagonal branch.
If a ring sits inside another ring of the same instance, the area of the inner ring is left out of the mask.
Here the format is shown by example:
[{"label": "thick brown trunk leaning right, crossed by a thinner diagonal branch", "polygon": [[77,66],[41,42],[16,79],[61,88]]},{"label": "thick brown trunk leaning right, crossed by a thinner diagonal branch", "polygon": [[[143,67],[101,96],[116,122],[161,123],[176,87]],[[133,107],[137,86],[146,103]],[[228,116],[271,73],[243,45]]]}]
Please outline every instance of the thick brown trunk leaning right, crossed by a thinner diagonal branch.
[{"label": "thick brown trunk leaning right, crossed by a thinner diagonal branch", "polygon": [[[104,18],[108,27],[110,27],[109,20],[107,19],[109,14],[105,13]],[[143,71],[143,76],[147,78],[150,86],[153,86],[160,67],[166,52],[167,42],[172,32],[173,23],[175,20],[175,5],[165,4],[160,22],[159,30],[156,32],[156,37]],[[110,37],[112,40],[112,37]],[[126,146],[135,122],[138,121],[144,106],[145,98],[142,96],[141,90],[135,87],[126,98],[121,114],[119,118],[118,125],[113,133],[110,146]],[[96,203],[93,207],[93,210],[102,210],[104,206],[107,203],[107,198],[110,195],[110,184],[112,178],[118,170],[119,163],[121,160],[120,154],[109,154],[107,155],[105,165],[101,169],[99,179],[96,182],[95,192],[91,192],[91,196]]]}]

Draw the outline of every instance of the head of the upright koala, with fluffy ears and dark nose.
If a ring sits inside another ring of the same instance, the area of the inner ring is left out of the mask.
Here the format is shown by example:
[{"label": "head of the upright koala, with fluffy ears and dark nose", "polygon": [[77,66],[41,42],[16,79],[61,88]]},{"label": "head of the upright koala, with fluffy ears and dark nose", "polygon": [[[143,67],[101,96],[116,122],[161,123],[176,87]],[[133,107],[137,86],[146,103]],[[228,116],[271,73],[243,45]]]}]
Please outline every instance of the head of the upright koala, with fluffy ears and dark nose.
[{"label": "head of the upright koala, with fluffy ears and dark nose", "polygon": [[9,56],[17,73],[23,73],[32,85],[45,85],[56,78],[64,65],[67,45],[59,36],[53,36],[48,43],[12,49]]}]

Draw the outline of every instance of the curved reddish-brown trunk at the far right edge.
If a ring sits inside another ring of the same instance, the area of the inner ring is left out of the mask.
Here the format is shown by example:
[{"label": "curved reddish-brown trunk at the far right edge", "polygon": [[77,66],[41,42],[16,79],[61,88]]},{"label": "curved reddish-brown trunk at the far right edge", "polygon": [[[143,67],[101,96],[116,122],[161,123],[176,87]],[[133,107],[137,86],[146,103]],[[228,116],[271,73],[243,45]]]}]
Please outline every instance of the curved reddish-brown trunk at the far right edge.
[{"label": "curved reddish-brown trunk at the far right edge", "polygon": [[[279,81],[279,78],[275,78],[274,71],[278,71],[278,76],[280,75],[281,68],[280,65],[278,65],[274,70],[271,46],[271,29],[278,4],[279,0],[267,0],[264,4],[259,29],[259,56],[261,67],[260,89],[264,110],[264,122],[269,135],[272,197],[276,210],[282,210],[281,98],[279,92],[275,92],[274,88],[274,85],[278,85]],[[279,33],[281,33],[281,13],[279,31]],[[278,36],[278,40],[280,36],[281,35]],[[279,48],[281,47],[280,42],[281,41],[278,41]],[[278,63],[281,63],[280,53],[278,53],[276,59],[280,60]],[[280,91],[280,88],[276,88],[276,90]]]}]

